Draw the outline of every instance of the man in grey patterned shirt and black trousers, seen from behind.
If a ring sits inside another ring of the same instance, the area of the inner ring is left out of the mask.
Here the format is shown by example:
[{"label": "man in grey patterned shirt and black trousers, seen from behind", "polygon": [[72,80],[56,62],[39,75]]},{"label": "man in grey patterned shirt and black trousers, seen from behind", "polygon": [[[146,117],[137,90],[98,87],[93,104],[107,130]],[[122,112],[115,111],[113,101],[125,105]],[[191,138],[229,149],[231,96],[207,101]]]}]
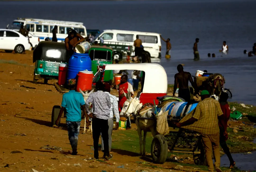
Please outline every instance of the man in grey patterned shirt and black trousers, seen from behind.
[{"label": "man in grey patterned shirt and black trousers, seen from behind", "polygon": [[[86,111],[92,118],[92,138],[94,146],[94,158],[99,159],[98,144],[100,133],[105,145],[103,157],[106,160],[111,158],[109,154],[109,136],[108,136],[108,119],[110,114],[111,100],[108,93],[103,92],[104,85],[102,82],[97,82],[95,85],[97,92],[91,93],[86,100]],[[89,111],[90,103],[92,103],[93,114]],[[113,127],[112,127],[113,128]]]}]

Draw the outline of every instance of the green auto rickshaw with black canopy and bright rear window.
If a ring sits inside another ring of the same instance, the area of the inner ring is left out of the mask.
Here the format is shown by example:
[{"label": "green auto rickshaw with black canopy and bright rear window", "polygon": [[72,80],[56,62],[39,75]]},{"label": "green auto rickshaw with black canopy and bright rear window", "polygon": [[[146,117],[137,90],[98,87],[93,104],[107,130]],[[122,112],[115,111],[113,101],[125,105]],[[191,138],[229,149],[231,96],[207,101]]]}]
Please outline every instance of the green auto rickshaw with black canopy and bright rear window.
[{"label": "green auto rickshaw with black canopy and bright rear window", "polygon": [[66,53],[64,43],[41,41],[34,49],[33,63],[35,62],[34,79],[44,79],[47,84],[49,79],[58,79],[59,64],[68,63],[69,55]]}]

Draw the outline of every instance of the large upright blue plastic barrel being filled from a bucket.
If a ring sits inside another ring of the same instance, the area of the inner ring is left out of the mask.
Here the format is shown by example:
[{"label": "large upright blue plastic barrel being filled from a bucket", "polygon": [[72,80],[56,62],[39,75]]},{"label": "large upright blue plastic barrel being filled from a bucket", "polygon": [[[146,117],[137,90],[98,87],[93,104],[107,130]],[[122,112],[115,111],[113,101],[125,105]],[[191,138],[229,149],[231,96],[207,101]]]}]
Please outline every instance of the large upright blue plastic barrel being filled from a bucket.
[{"label": "large upright blue plastic barrel being filled from a bucket", "polygon": [[74,52],[68,62],[68,74],[67,82],[69,79],[76,79],[79,71],[92,69],[92,61],[88,53],[76,53]]}]

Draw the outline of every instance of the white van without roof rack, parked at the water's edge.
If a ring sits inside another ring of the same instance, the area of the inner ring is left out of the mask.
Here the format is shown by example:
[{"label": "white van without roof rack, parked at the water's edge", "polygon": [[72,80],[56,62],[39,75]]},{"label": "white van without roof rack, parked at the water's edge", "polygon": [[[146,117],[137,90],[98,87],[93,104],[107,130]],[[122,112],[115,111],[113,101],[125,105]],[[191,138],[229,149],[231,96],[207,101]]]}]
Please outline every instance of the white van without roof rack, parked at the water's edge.
[{"label": "white van without roof rack, parked at the water's edge", "polygon": [[[160,58],[161,57],[161,38],[159,33],[150,33],[150,32],[138,32],[138,31],[128,31],[128,30],[103,30],[103,32],[96,38],[95,41],[100,42],[100,37],[104,39],[104,45],[132,45],[134,40],[136,40],[136,35],[139,36],[139,39],[142,40],[142,45],[144,50],[149,52],[152,58]],[[115,50],[113,47],[113,54]],[[131,55],[135,55],[134,46]],[[122,54],[126,54],[125,50]],[[121,54],[121,52],[119,53]]]}]

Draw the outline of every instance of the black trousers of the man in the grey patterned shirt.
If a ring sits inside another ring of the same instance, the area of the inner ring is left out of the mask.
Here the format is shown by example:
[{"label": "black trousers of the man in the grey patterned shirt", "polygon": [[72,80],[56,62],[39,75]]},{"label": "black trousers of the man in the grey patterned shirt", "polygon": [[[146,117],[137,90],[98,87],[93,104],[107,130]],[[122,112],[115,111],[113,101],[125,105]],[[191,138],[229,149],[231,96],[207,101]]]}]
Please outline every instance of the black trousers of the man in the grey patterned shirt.
[{"label": "black trousers of the man in the grey patterned shirt", "polygon": [[104,156],[109,156],[109,125],[108,120],[93,118],[92,119],[92,138],[93,138],[93,147],[94,147],[94,158],[99,158],[98,144],[100,133],[102,135],[103,144],[104,144]]}]

